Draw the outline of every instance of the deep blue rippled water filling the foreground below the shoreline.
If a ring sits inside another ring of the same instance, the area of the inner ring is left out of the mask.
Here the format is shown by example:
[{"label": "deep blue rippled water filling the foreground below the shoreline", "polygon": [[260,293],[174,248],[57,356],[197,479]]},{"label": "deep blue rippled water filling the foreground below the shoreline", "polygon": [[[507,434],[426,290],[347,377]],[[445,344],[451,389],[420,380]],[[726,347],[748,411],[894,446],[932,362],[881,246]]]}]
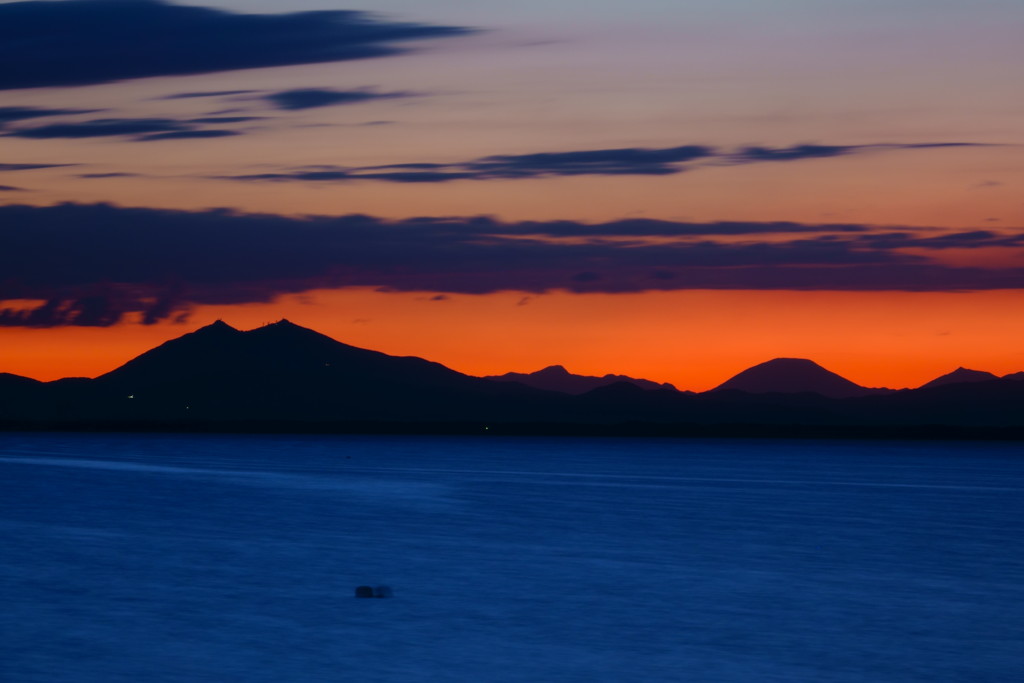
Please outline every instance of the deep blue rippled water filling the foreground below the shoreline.
[{"label": "deep blue rippled water filling the foreground below the shoreline", "polygon": [[1022,494],[1020,444],[0,434],[0,680],[1016,681]]}]

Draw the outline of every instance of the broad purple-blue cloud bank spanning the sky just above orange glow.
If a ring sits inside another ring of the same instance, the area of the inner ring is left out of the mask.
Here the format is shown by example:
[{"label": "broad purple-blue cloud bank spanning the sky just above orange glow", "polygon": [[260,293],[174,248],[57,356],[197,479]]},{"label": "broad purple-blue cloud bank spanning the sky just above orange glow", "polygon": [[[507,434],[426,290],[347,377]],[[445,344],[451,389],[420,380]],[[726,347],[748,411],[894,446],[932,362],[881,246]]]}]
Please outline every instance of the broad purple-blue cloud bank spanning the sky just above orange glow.
[{"label": "broad purple-blue cloud bank spanning the sky just above orange glow", "polygon": [[439,295],[1024,288],[1020,268],[951,267],[907,252],[929,240],[1010,246],[1009,233],[877,231],[867,225],[392,221],[226,209],[0,206],[0,302],[43,302],[35,308],[7,303],[0,324],[156,323],[199,304],[344,287]]}]

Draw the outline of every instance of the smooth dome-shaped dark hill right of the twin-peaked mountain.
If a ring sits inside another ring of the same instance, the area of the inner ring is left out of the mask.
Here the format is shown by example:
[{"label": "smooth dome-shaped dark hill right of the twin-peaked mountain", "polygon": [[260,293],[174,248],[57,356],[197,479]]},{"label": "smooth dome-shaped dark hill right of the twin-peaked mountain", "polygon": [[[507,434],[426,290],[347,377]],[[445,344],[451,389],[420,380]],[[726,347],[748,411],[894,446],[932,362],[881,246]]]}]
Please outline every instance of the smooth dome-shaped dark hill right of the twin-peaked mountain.
[{"label": "smooth dome-shaped dark hill right of the twin-peaked mountain", "polygon": [[774,358],[749,368],[713,389],[745,393],[816,393],[829,398],[849,398],[878,393],[829,372],[806,358]]}]

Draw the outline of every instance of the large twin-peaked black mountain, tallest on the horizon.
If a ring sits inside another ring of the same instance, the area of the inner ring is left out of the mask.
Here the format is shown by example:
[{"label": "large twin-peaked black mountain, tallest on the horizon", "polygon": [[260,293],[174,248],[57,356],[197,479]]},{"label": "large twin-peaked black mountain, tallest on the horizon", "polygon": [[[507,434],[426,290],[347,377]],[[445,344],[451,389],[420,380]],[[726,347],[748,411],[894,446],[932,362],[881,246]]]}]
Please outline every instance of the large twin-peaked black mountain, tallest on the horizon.
[{"label": "large twin-peaked black mountain, tallest on the horizon", "polygon": [[289,321],[248,332],[218,321],[92,380],[91,401],[76,401],[79,389],[65,390],[61,417],[528,419],[557,400],[556,394],[487,382],[423,358],[349,346]]}]

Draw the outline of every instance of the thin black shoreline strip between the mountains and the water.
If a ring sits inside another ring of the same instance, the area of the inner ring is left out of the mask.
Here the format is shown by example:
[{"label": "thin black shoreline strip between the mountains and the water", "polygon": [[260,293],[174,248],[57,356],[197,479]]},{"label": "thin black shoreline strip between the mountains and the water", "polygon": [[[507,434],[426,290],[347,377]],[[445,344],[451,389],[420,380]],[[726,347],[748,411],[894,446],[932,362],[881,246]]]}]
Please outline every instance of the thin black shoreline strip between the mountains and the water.
[{"label": "thin black shoreline strip between the mountains and the water", "polygon": [[127,432],[168,434],[366,434],[410,436],[598,436],[670,438],[781,438],[849,440],[1024,440],[1024,427],[959,425],[771,425],[620,424],[482,422],[298,422],[270,420],[0,421],[0,432]]}]

